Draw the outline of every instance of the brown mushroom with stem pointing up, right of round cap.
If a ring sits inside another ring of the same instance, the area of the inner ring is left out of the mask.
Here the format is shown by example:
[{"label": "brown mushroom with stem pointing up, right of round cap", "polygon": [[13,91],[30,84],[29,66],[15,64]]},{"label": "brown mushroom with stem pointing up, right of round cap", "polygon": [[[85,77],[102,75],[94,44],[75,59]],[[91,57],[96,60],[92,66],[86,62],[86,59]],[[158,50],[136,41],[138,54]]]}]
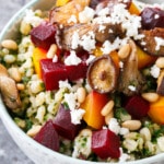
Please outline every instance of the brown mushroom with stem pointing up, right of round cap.
[{"label": "brown mushroom with stem pointing up, right of round cap", "polygon": [[120,71],[118,90],[124,94],[131,96],[142,91],[145,81],[138,70],[137,46],[133,40],[130,40],[129,44],[131,52],[124,62],[122,71]]}]

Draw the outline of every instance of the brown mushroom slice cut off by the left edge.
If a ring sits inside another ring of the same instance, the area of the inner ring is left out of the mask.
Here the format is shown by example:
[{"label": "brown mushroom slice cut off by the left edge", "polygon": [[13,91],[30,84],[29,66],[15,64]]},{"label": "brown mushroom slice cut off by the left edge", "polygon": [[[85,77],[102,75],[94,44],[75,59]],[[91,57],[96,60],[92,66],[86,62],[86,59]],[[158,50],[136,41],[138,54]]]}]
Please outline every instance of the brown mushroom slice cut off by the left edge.
[{"label": "brown mushroom slice cut off by the left edge", "polygon": [[7,69],[2,65],[0,65],[0,92],[4,104],[11,110],[17,110],[21,107],[16,83],[9,77]]}]

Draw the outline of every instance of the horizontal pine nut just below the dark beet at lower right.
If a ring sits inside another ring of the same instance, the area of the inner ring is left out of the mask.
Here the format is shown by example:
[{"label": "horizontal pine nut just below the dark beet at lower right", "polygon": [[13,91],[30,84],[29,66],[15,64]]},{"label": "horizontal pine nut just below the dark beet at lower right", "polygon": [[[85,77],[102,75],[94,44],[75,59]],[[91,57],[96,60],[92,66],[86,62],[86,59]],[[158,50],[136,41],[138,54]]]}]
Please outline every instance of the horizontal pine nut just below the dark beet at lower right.
[{"label": "horizontal pine nut just below the dark beet at lower right", "polygon": [[140,120],[126,120],[121,124],[124,128],[128,128],[129,130],[138,130],[141,127]]}]

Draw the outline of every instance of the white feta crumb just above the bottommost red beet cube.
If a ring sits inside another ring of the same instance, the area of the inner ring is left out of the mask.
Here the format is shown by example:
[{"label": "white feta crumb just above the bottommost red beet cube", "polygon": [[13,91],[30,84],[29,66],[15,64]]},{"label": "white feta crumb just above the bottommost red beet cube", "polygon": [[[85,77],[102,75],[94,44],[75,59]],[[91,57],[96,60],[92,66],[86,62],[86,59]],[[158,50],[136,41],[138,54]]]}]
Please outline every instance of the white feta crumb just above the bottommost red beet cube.
[{"label": "white feta crumb just above the bottommost red beet cube", "polygon": [[112,118],[108,122],[108,129],[115,132],[116,134],[120,131],[120,126],[116,118]]}]

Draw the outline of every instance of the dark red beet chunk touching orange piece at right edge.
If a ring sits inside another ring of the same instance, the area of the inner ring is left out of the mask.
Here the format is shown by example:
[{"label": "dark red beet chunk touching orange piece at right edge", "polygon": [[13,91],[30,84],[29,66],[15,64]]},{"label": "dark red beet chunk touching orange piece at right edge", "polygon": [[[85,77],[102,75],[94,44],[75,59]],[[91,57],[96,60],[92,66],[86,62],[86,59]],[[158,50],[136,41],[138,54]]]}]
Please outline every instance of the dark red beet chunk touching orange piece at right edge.
[{"label": "dark red beet chunk touching orange piece at right edge", "polygon": [[141,96],[134,95],[127,101],[125,108],[133,118],[141,119],[147,116],[150,104]]}]

